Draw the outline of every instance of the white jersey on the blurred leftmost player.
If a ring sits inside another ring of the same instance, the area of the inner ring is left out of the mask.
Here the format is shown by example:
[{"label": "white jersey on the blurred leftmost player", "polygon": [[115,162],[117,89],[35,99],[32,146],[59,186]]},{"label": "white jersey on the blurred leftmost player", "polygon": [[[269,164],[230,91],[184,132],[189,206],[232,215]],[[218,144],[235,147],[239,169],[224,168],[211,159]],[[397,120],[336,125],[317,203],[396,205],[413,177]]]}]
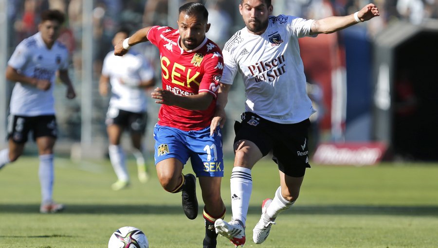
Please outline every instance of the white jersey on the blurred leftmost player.
[{"label": "white jersey on the blurred leftmost player", "polygon": [[68,50],[58,41],[51,49],[37,33],[21,41],[8,65],[28,77],[46,79],[51,82],[49,90],[17,82],[12,90],[10,112],[13,115],[40,116],[55,114],[55,75],[58,70],[68,69]]}]

